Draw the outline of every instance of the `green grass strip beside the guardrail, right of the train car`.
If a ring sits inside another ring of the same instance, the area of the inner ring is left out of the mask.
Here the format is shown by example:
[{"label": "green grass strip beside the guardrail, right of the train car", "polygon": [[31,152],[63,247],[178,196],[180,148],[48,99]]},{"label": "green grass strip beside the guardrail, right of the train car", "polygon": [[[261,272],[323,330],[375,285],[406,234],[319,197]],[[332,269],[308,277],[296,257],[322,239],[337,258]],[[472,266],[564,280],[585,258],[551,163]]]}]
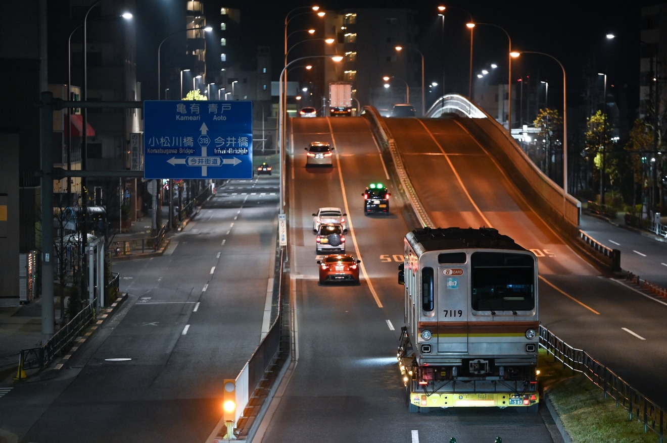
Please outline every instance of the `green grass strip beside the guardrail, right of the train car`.
[{"label": "green grass strip beside the guardrail, right of the train car", "polygon": [[638,420],[629,420],[623,406],[604,398],[604,392],[584,375],[566,368],[540,348],[538,360],[542,390],[548,392],[564,428],[574,443],[655,443],[652,430],[644,432]]}]

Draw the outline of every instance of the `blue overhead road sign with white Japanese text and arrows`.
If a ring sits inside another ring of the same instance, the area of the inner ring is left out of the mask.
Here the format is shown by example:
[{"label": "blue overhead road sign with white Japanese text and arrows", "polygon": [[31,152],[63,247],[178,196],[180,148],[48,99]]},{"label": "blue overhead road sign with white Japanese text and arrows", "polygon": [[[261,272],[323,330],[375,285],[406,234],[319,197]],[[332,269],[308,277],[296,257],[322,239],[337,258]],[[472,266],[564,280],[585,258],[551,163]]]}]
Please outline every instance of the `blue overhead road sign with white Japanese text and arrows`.
[{"label": "blue overhead road sign with white Japanese text and arrows", "polygon": [[145,179],[252,179],[251,101],[145,101]]}]

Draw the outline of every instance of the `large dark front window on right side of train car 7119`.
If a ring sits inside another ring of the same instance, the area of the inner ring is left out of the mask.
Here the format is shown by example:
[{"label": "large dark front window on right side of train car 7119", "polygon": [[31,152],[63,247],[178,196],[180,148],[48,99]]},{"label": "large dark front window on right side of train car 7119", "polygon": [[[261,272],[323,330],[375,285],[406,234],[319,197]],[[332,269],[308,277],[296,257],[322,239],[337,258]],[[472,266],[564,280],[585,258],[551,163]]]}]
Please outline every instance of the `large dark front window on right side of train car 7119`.
[{"label": "large dark front window on right side of train car 7119", "polygon": [[526,254],[474,252],[472,308],[513,311],[535,307],[535,262]]}]

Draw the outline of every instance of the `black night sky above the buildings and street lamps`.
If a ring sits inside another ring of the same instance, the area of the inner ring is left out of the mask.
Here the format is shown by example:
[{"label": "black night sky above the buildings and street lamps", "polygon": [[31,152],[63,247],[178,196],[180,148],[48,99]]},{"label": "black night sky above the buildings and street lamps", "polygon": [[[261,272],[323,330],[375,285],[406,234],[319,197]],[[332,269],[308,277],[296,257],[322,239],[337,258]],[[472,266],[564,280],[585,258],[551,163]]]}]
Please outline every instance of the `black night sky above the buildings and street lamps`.
[{"label": "black night sky above the buildings and street lamps", "polygon": [[[167,7],[164,0],[139,0],[153,3],[151,7]],[[568,97],[581,95],[586,76],[590,79],[598,72],[608,73],[608,90],[636,90],[639,82],[640,8],[658,3],[656,0],[640,1],[368,1],[325,0],[261,1],[231,0],[225,6],[241,10],[242,38],[245,53],[254,55],[259,45],[271,47],[273,80],[281,69],[283,54],[283,29],[285,15],[296,7],[314,4],[322,9],[342,10],[351,8],[418,8],[420,14],[419,48],[424,53],[426,83],[445,83],[446,93],[468,93],[470,77],[470,31],[466,29],[470,15],[478,23],[490,23],[502,27],[512,38],[512,49],[537,51],[555,57],[564,65],[568,83]],[[444,19],[438,17],[437,6],[450,9]],[[303,12],[301,10],[299,12]],[[155,10],[153,9],[153,12]],[[469,15],[470,14],[470,15]],[[157,14],[159,15],[159,14]],[[307,15],[290,22],[289,31],[307,26]],[[153,35],[163,35],[156,23]],[[294,27],[292,29],[292,27]],[[141,28],[140,28],[141,29]],[[614,33],[612,41],[607,33]],[[156,43],[157,45],[157,43]],[[490,63],[499,65],[496,83],[507,81],[508,39],[506,34],[490,25],[479,25],[474,31],[474,73]],[[154,51],[154,50],[153,50]],[[151,54],[152,57],[152,54]],[[504,72],[504,74],[502,74]],[[562,69],[553,60],[542,55],[523,55],[512,62],[512,77],[525,75],[548,81],[549,101],[562,97]],[[141,73],[139,73],[141,77]],[[602,77],[600,77],[602,81]],[[637,90],[638,91],[638,90]],[[637,93],[628,93],[630,101],[638,101]],[[636,103],[629,103],[635,109]],[[569,107],[569,106],[568,106]]]}]

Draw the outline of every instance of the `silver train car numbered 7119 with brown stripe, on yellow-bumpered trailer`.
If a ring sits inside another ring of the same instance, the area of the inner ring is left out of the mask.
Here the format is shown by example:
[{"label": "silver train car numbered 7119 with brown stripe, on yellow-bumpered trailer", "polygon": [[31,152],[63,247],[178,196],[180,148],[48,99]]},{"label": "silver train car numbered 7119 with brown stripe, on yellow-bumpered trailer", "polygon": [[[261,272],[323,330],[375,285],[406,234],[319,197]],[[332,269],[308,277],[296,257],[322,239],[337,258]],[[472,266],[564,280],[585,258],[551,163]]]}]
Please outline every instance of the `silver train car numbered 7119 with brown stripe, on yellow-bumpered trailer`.
[{"label": "silver train car numbered 7119 with brown stripe, on yellow-bumpered trailer", "polygon": [[404,243],[398,362],[410,412],[537,411],[535,254],[494,228],[419,228]]}]

